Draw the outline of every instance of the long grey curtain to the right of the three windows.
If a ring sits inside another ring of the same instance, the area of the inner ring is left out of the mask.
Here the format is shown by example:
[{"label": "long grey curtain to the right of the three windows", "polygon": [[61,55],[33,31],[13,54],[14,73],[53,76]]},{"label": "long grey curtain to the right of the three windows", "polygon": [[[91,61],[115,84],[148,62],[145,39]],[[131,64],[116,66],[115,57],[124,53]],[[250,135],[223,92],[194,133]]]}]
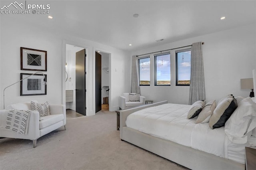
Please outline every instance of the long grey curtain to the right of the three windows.
[{"label": "long grey curtain to the right of the three windows", "polygon": [[191,48],[189,105],[198,100],[205,100],[204,61],[201,42],[192,43]]}]

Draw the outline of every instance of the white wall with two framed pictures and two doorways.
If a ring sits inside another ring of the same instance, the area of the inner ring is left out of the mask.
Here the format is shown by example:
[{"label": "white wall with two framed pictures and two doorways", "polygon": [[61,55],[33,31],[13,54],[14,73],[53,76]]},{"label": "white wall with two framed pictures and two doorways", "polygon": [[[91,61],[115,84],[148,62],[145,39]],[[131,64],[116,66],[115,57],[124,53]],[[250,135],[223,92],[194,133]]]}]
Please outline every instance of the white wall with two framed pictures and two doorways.
[{"label": "white wall with two framed pictures and two doorways", "polygon": [[[0,35],[0,96],[3,95],[4,87],[20,79],[20,73],[35,72],[20,70],[20,47],[47,51],[47,72],[45,72],[47,74],[47,95],[20,96],[20,84],[18,83],[6,90],[6,106],[31,99],[37,99],[41,103],[49,101],[65,104],[66,43],[87,50],[87,115],[95,114],[95,49],[111,53],[110,85],[115,90],[110,89],[112,97],[110,111],[119,109],[118,96],[130,89],[130,83],[128,83],[130,82],[130,67],[126,63],[130,63],[131,59],[125,51],[68,34],[41,29],[31,23],[22,22],[18,15],[12,18],[7,15],[1,17]],[[0,102],[0,109],[3,109],[2,97]]]}]

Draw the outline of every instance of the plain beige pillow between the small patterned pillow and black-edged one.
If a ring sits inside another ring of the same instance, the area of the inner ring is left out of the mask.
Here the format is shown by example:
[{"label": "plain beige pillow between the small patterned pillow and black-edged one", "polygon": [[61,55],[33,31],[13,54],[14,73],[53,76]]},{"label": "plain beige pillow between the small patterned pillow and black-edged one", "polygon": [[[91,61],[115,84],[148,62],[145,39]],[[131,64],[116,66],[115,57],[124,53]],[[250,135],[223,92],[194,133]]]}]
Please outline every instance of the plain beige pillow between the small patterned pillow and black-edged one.
[{"label": "plain beige pillow between the small patterned pillow and black-edged one", "polygon": [[196,119],[196,123],[208,123],[215,108],[215,100],[206,103],[202,111],[199,113],[198,118]]}]

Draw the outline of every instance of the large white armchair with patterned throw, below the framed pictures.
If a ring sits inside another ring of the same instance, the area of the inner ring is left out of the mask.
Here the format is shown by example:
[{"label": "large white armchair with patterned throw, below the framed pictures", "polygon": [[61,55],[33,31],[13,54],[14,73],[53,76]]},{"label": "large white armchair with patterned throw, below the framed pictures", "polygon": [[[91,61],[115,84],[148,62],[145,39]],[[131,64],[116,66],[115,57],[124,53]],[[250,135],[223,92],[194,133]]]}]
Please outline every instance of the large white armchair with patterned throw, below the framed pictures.
[{"label": "large white armchair with patterned throw, below the framed pictures", "polygon": [[[7,109],[18,110],[32,110],[30,102],[16,103],[9,105]],[[33,146],[36,147],[36,140],[53,130],[64,126],[66,130],[66,108],[65,105],[50,104],[50,115],[41,117],[42,121],[39,121],[39,112],[32,111],[28,119],[28,132],[26,134],[20,134],[18,132],[10,131],[5,128],[6,126],[6,110],[0,110],[0,137],[5,138],[20,138],[33,140]]]}]

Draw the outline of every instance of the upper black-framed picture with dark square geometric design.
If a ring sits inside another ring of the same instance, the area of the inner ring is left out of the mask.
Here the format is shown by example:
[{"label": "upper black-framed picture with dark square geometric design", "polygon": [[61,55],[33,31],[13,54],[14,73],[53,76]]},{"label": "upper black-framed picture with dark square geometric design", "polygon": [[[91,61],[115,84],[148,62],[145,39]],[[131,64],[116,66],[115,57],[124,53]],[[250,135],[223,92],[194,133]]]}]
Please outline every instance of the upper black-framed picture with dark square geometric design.
[{"label": "upper black-framed picture with dark square geometric design", "polygon": [[47,51],[20,47],[20,69],[47,71]]}]

